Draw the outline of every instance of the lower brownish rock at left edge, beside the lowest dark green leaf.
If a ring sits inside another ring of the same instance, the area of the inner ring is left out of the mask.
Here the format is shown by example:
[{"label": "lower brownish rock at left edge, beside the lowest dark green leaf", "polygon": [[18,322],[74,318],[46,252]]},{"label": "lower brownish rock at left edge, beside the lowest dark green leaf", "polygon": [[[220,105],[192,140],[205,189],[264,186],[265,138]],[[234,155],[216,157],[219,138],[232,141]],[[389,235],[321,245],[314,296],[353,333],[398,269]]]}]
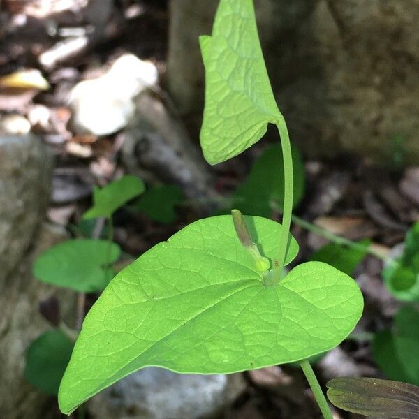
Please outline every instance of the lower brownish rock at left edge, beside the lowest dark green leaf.
[{"label": "lower brownish rock at left edge, beside the lowest dark green leaf", "polygon": [[27,383],[23,372],[27,348],[50,329],[38,311],[39,302],[57,295],[66,321],[70,325],[74,321],[74,293],[41,284],[31,275],[36,255],[66,238],[64,228],[43,224],[34,250],[24,254],[23,262],[0,282],[0,418],[47,419],[57,411],[56,402]]}]

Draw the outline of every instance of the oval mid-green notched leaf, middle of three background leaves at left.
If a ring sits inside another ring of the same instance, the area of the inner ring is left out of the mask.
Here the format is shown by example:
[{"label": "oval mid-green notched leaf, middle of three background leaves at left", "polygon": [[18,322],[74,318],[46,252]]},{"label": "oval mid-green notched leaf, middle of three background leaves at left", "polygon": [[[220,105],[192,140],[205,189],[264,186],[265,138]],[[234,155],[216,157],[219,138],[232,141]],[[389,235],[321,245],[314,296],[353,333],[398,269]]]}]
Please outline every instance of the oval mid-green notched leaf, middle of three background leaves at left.
[{"label": "oval mid-green notched leaf, middle of three background leaves at left", "polygon": [[40,281],[82,293],[103,291],[114,272],[106,263],[121,255],[115,243],[105,240],[67,240],[41,253],[34,263]]}]

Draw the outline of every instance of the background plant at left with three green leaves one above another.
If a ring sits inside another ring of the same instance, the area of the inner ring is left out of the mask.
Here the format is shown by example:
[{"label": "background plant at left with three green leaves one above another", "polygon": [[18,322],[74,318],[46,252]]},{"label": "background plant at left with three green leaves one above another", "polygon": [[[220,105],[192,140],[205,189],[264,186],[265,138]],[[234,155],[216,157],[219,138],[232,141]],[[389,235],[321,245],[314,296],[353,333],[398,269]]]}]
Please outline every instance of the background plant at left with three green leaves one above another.
[{"label": "background plant at left with three green leaves one above another", "polygon": [[[47,249],[34,263],[34,277],[45,284],[77,291],[81,296],[103,291],[115,276],[112,264],[121,256],[121,249],[112,242],[112,215],[144,190],[142,181],[133,176],[124,176],[102,189],[96,188],[94,204],[84,214],[84,222],[105,217],[108,220],[108,240],[72,239]],[[82,320],[84,298],[80,302],[78,317]],[[68,328],[60,318],[59,306],[53,311],[58,312],[52,321],[55,329],[48,330],[31,343],[24,369],[29,383],[49,395],[58,394],[59,383],[78,336],[78,330]]]}]

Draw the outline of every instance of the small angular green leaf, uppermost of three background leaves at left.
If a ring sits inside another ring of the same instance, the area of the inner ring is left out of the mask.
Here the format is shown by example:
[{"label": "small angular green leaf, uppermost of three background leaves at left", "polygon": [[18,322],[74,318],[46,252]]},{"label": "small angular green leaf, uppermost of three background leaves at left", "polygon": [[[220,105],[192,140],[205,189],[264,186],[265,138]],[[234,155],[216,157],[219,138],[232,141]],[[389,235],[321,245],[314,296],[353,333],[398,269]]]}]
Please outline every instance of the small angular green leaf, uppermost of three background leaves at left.
[{"label": "small angular green leaf, uppermost of three background leaves at left", "polygon": [[95,188],[93,191],[94,205],[84,212],[84,219],[99,216],[112,216],[112,214],[129,200],[145,191],[145,184],[136,176],[127,175],[111,182],[104,188]]}]

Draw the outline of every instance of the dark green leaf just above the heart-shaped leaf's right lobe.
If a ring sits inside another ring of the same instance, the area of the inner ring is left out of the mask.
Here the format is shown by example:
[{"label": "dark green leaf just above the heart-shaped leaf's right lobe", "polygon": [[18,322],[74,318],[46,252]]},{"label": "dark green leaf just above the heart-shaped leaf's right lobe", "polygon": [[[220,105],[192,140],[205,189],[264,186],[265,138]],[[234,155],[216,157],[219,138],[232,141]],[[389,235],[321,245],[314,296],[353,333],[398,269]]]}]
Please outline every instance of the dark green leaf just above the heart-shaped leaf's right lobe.
[{"label": "dark green leaf just above the heart-shaped leaf's right lobe", "polygon": [[[368,246],[371,240],[361,240],[359,243]],[[366,254],[367,251],[353,249],[337,243],[329,243],[312,253],[310,260],[328,263],[341,272],[351,275]]]}]

